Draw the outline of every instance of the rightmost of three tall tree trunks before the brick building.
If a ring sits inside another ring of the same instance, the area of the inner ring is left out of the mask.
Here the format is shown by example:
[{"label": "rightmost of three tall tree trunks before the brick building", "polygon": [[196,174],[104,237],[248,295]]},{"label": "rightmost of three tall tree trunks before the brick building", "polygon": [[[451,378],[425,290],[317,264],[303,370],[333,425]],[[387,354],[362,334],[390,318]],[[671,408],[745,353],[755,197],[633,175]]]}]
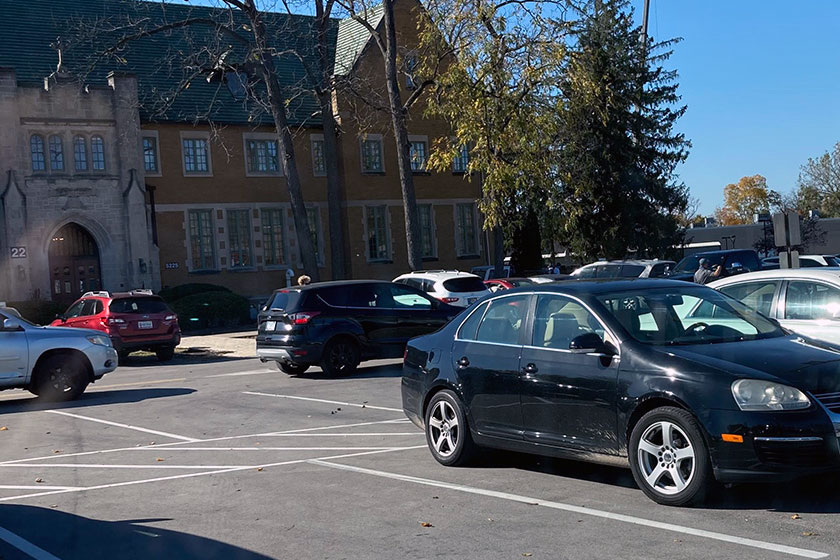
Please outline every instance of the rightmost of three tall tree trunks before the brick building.
[{"label": "rightmost of three tall tree trunks before the brick building", "polygon": [[411,270],[422,270],[420,256],[420,224],[417,219],[417,196],[414,193],[414,177],[411,174],[408,129],[405,123],[405,109],[400,96],[397,77],[397,34],[394,28],[394,0],[384,0],[385,21],[385,81],[388,86],[388,101],[391,106],[391,121],[394,126],[394,140],[397,145],[397,164],[402,188],[405,211],[405,241],[408,250],[408,266]]}]

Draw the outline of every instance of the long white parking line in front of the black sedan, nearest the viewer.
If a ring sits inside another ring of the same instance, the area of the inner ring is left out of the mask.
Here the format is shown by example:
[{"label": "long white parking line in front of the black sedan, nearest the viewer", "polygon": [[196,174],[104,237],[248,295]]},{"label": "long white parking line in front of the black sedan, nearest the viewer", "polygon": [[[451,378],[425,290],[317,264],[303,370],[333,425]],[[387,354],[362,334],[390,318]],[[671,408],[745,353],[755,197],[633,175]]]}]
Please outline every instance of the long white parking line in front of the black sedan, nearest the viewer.
[{"label": "long white parking line in front of the black sedan, nearest the viewer", "polygon": [[624,515],[621,513],[612,513],[609,511],[602,511],[588,507],[575,506],[572,504],[564,504],[560,502],[551,502],[548,500],[541,500],[538,498],[530,498],[528,496],[520,496],[518,494],[510,494],[508,492],[498,492],[496,490],[485,490],[483,488],[475,488],[473,486],[464,486],[462,484],[454,484],[451,482],[442,482],[439,480],[431,480],[428,478],[418,478],[416,476],[409,476],[398,473],[391,473],[386,471],[377,471],[373,469],[366,469],[363,467],[355,467],[352,465],[344,465],[341,463],[330,463],[327,459],[310,459],[310,463],[314,465],[321,465],[331,469],[340,469],[345,471],[352,471],[361,474],[378,476],[382,478],[390,478],[393,480],[400,480],[403,482],[413,482],[414,484],[423,484],[425,486],[435,486],[437,488],[446,488],[448,490],[455,490],[458,492],[466,492],[468,494],[478,494],[481,496],[489,496],[492,498],[500,498],[502,500],[510,500],[512,502],[519,502],[522,504],[542,506],[551,509],[558,509],[562,511],[571,511],[579,515],[589,515],[592,517],[600,517],[603,519],[611,519],[613,521],[621,521],[623,523],[631,523],[633,525],[643,525],[645,527],[653,527],[656,529],[663,529],[665,531],[672,531],[674,533],[682,533],[685,535],[693,535],[695,537],[702,537],[717,541],[723,541],[752,548],[760,548],[762,550],[770,550],[772,552],[780,552],[783,554],[790,554],[793,556],[801,556],[803,558],[825,558],[828,554],[824,552],[817,552],[815,550],[807,550],[804,548],[795,548],[792,546],[785,546],[781,544],[769,543],[765,541],[757,541],[754,539],[747,539],[743,537],[736,537],[727,535],[725,533],[717,533],[714,531],[705,531],[703,529],[695,529],[693,527],[686,527],[683,525],[675,525],[673,523],[663,523],[661,521],[653,521],[651,519],[644,519],[642,517],[634,517],[632,515]]}]

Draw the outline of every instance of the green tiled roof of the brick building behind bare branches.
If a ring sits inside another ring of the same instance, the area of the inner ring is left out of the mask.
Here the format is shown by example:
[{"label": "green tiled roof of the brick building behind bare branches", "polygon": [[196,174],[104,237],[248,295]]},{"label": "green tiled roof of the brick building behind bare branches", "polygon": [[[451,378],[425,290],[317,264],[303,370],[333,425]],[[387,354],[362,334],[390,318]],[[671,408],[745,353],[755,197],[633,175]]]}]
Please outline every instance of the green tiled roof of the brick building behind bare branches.
[{"label": "green tiled roof of the brick building behind bare branches", "polygon": [[[181,21],[185,18],[219,20],[233,17],[237,33],[252,37],[247,19],[238,11],[205,6],[143,2],[136,0],[0,0],[0,67],[15,69],[21,84],[42,85],[43,79],[56,69],[58,55],[51,44],[58,38],[62,48],[62,68],[71,74],[83,74],[91,64],[91,57],[112,45],[116,38],[135,29]],[[315,48],[315,18],[312,16],[267,13],[264,21],[272,37],[278,76],[288,98],[291,124],[317,125],[319,107],[308,91],[309,79],[301,54],[311,68],[317,69]],[[131,22],[132,25],[126,27]],[[330,43],[335,46],[340,27],[334,20]],[[358,23],[356,25],[359,25]],[[117,30],[117,28],[120,28]],[[93,31],[92,31],[93,30]],[[367,31],[365,31],[367,33]],[[358,42],[354,49],[360,50]],[[189,31],[173,30],[130,42],[119,59],[110,58],[93,66],[85,82],[104,85],[109,71],[137,75],[140,98],[140,118],[144,121],[207,121],[220,123],[248,123],[253,106],[237,99],[236,88],[229,88],[220,76],[206,79],[206,74],[194,76],[185,68],[186,54],[201,53],[201,47],[218,52],[229,50],[226,60],[240,60],[244,48],[235,38],[218,34],[209,25],[190,26]],[[353,51],[355,52],[355,51]],[[353,54],[353,59],[358,53]],[[347,56],[342,54],[342,60]],[[197,56],[197,65],[212,62],[207,55]],[[352,64],[352,63],[351,63]],[[235,76],[234,76],[235,78]],[[236,80],[233,81],[233,86]],[[177,95],[179,86],[189,82]],[[263,115],[260,122],[271,122]]]}]

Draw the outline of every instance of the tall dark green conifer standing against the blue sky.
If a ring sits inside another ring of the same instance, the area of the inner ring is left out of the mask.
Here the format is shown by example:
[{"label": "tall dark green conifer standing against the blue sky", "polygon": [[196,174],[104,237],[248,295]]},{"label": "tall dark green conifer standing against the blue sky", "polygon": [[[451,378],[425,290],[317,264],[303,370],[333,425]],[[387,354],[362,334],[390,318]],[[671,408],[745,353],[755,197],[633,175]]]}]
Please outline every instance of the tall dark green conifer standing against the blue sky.
[{"label": "tall dark green conifer standing against the blue sky", "polygon": [[676,40],[639,40],[626,0],[588,3],[559,82],[560,206],[572,251],[662,255],[679,238],[687,189],[674,175],[690,143],[674,132]]}]

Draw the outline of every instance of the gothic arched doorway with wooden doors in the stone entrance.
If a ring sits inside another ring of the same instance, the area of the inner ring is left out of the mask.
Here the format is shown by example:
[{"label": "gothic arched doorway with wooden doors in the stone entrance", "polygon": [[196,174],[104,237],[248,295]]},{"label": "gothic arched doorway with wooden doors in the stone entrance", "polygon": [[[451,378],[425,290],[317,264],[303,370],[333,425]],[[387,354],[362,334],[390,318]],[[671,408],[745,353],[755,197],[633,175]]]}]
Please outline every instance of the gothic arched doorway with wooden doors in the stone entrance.
[{"label": "gothic arched doorway with wooden doors in the stone entrance", "polygon": [[53,235],[49,261],[53,301],[69,305],[83,293],[102,288],[99,247],[79,224],[71,222]]}]

